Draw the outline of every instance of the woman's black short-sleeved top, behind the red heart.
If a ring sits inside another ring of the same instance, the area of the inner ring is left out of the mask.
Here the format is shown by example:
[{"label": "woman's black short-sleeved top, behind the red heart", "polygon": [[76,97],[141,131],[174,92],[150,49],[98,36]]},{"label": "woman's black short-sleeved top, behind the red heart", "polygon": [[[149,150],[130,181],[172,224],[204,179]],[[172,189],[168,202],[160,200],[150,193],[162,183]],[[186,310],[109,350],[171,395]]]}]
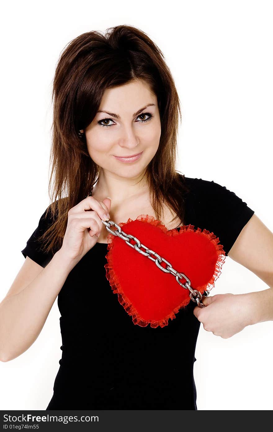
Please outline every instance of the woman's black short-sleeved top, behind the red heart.
[{"label": "woman's black short-sleeved top, behind the red heart", "polygon": [[[225,186],[185,180],[185,225],[213,232],[228,255],[254,211]],[[49,223],[43,214],[22,250],[42,267],[53,254],[38,251],[34,240]],[[190,301],[165,327],[135,325],[106,278],[107,252],[107,244],[96,243],[59,292],[62,358],[47,410],[197,410],[196,303]]]}]

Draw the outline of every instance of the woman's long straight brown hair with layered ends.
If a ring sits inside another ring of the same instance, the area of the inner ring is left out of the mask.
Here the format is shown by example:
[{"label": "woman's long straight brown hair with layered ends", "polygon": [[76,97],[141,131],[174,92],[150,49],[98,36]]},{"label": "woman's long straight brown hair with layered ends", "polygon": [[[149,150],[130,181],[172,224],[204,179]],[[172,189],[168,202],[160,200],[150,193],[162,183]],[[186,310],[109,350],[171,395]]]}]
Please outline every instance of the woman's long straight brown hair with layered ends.
[{"label": "woman's long straight brown hair with layered ends", "polygon": [[[160,220],[162,203],[184,220],[185,178],[176,172],[177,133],[181,110],[176,86],[163,53],[140,29],[117,25],[83,33],[69,42],[60,55],[53,80],[53,124],[50,187],[54,178],[50,224],[39,237],[41,248],[53,252],[62,245],[68,211],[92,190],[100,166],[90,157],[85,136],[78,136],[94,119],[106,89],[134,79],[149,84],[157,96],[161,136],[146,171],[150,202]],[[172,221],[176,219],[173,218]]]}]

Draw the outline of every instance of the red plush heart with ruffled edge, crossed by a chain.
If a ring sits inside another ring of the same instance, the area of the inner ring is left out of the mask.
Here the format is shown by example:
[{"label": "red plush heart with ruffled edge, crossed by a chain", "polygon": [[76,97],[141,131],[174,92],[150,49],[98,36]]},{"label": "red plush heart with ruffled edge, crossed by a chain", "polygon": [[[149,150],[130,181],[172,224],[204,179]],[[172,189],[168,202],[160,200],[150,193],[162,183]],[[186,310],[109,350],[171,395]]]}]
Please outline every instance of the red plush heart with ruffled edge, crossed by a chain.
[{"label": "red plush heart with ruffled edge, crossed by a chain", "polygon": [[[226,256],[213,232],[194,229],[194,225],[181,226],[180,231],[168,230],[148,215],[129,218],[118,225],[184,273],[191,281],[191,288],[201,294],[206,289],[210,291],[220,276]],[[126,245],[122,238],[109,233],[107,241],[106,277],[134,324],[164,327],[169,318],[176,318],[179,309],[190,302],[190,291],[180,286],[171,273],[163,272],[154,261]],[[134,245],[135,241],[132,239],[130,243]],[[160,265],[166,268],[163,261]],[[180,282],[185,283],[185,278]]]}]

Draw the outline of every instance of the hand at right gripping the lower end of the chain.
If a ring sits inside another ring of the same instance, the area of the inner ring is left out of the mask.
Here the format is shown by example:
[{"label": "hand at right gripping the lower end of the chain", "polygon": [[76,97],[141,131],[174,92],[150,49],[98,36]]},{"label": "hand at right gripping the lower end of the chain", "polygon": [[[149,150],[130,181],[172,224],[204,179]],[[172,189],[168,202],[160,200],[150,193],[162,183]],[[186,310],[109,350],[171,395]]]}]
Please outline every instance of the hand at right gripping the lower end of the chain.
[{"label": "hand at right gripping the lower end of the chain", "polygon": [[204,330],[215,336],[228,339],[243,330],[249,322],[249,309],[240,294],[216,294],[202,297],[205,308],[196,306],[193,310]]}]

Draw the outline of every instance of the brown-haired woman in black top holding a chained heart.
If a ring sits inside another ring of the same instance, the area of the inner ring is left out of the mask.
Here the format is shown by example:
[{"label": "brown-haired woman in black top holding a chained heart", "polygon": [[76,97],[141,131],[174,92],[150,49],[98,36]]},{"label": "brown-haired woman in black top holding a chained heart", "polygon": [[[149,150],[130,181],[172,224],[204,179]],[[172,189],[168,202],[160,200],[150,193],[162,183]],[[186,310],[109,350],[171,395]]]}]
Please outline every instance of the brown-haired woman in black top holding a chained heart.
[{"label": "brown-haired woman in black top holding a chained heart", "polygon": [[226,187],[176,172],[179,97],[163,54],[139,29],[120,25],[71,41],[52,96],[52,203],[1,303],[1,322],[13,318],[1,357],[31,346],[58,296],[62,359],[47,410],[197,410],[200,322],[226,338],[270,320],[273,290],[204,297],[206,307],[189,302],[163,327],[135,325],[106,278],[102,221],[143,214],[168,230],[208,230],[271,287],[272,254],[264,251],[273,250],[273,234]]}]

